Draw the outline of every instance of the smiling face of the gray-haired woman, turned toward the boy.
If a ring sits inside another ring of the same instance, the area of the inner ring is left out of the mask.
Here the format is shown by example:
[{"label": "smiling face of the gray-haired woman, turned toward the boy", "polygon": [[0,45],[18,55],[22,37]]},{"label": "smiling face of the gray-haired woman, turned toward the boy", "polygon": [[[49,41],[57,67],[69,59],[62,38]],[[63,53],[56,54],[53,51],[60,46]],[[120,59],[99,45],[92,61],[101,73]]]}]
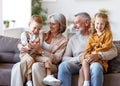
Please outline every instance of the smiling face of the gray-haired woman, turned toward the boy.
[{"label": "smiling face of the gray-haired woman, turned toward the boy", "polygon": [[50,30],[52,33],[58,33],[60,30],[60,24],[54,20],[53,17],[50,18]]}]

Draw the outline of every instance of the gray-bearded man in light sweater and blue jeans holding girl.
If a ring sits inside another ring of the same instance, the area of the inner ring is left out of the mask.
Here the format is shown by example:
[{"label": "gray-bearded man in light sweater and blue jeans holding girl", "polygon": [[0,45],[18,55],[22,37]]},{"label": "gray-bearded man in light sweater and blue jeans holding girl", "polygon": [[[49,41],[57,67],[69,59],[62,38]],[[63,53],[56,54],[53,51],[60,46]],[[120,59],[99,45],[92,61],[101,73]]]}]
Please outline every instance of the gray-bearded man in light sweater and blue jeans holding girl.
[{"label": "gray-bearded man in light sweater and blue jeans holding girl", "polygon": [[[59,65],[58,79],[61,80],[61,86],[71,86],[72,75],[79,73],[80,61],[89,36],[91,18],[88,13],[82,12],[75,15],[74,28],[76,34],[72,36],[67,44],[63,62]],[[117,55],[117,49],[113,47],[107,52],[94,54],[90,65],[90,86],[103,86],[103,67],[96,62],[98,59],[110,60]]]}]

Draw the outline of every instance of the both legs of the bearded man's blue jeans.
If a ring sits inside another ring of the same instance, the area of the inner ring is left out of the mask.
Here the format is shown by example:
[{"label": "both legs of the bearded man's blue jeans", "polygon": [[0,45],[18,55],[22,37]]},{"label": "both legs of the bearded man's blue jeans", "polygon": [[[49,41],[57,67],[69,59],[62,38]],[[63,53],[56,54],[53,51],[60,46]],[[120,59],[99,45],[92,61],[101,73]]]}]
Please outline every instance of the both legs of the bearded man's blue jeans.
[{"label": "both legs of the bearded man's blue jeans", "polygon": [[[80,64],[74,62],[62,62],[58,68],[58,79],[61,86],[71,86],[72,75],[79,73]],[[98,62],[90,65],[91,86],[103,86],[103,67]]]}]

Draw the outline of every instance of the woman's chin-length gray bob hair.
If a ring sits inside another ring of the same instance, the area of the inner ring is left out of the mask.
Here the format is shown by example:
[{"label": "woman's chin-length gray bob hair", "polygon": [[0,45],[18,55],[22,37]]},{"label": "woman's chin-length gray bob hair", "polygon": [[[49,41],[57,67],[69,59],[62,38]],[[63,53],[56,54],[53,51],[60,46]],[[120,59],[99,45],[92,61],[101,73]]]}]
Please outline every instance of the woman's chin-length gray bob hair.
[{"label": "woman's chin-length gray bob hair", "polygon": [[66,18],[63,14],[61,13],[54,13],[50,15],[50,18],[53,17],[56,22],[60,24],[60,33],[65,32],[66,30]]}]

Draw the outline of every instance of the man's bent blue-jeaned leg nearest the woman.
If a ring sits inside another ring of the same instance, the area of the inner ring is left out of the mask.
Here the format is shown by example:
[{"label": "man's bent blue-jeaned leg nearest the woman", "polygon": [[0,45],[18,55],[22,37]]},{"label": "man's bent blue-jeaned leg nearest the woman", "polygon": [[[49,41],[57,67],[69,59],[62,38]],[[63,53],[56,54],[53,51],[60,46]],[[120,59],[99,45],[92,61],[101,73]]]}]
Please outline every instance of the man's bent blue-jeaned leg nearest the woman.
[{"label": "man's bent blue-jeaned leg nearest the woman", "polygon": [[71,86],[72,75],[79,73],[80,64],[74,62],[62,62],[58,68],[58,79],[61,86]]}]

